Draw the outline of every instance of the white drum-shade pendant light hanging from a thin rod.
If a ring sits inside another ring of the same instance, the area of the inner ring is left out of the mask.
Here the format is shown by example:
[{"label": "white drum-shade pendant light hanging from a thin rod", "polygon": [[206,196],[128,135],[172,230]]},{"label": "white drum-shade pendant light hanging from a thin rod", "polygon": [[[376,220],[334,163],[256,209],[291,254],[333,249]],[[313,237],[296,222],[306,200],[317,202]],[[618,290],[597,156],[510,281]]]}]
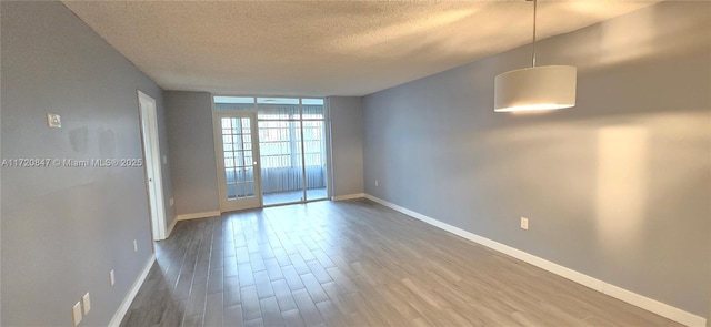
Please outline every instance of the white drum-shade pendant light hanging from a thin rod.
[{"label": "white drum-shade pendant light hanging from a thin rod", "polygon": [[505,72],[497,76],[494,80],[495,112],[554,110],[575,105],[578,70],[574,67],[535,67],[537,7],[538,1],[533,0],[531,68]]}]

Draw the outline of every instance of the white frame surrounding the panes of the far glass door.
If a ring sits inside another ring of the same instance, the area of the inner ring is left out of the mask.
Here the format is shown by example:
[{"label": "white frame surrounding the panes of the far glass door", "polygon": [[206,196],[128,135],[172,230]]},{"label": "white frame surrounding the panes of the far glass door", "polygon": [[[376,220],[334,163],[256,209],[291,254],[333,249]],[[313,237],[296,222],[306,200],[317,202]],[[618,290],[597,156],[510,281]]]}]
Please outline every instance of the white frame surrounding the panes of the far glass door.
[{"label": "white frame surrounding the panes of the far glass door", "polygon": [[[231,212],[231,211],[243,211],[243,210],[253,210],[263,207],[263,198],[261,191],[261,161],[259,153],[259,127],[257,125],[257,113],[256,112],[216,112],[214,110],[214,100],[212,100],[212,131],[214,134],[214,156],[217,163],[218,171],[218,194],[220,212]],[[223,152],[223,143],[222,143],[222,122],[223,117],[249,117],[251,121],[250,130],[251,130],[251,142],[252,142],[252,161],[254,164],[252,165],[253,170],[253,178],[254,178],[254,198],[252,200],[251,205],[247,202],[247,200],[234,200],[237,202],[242,201],[244,206],[234,206],[227,197],[227,183],[224,176],[224,152]]]}]

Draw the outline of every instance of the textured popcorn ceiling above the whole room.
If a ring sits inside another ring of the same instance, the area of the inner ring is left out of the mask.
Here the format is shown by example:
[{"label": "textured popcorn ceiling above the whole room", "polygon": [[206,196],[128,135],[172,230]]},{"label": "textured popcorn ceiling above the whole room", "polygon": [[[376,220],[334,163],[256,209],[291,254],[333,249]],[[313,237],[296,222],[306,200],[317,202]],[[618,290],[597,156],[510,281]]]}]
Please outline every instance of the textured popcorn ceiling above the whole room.
[{"label": "textured popcorn ceiling above the whole room", "polygon": [[[655,2],[539,1],[539,38]],[[363,95],[525,44],[533,10],[522,0],[63,3],[166,90],[314,96]]]}]

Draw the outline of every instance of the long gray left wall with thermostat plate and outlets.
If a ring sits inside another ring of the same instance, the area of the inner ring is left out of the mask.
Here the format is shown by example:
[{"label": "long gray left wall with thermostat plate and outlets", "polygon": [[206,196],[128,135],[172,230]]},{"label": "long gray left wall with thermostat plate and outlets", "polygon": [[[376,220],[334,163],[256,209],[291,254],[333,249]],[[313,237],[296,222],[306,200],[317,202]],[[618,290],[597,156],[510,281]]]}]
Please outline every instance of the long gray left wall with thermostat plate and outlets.
[{"label": "long gray left wall with thermostat plate and outlets", "polygon": [[[60,2],[2,1],[1,29],[2,159],[142,157],[136,91],[162,119],[156,83]],[[62,129],[47,127],[47,112]],[[163,175],[168,201],[168,165]],[[71,326],[90,292],[81,325],[106,326],[151,255],[143,168],[3,167],[2,177],[0,325]]]}]

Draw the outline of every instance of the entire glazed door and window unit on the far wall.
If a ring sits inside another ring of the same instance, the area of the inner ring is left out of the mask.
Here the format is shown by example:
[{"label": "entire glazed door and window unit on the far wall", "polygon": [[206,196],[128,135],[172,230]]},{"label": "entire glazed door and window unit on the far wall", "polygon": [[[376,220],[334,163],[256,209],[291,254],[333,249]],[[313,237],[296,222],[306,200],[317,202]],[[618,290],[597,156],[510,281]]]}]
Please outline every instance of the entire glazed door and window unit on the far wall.
[{"label": "entire glazed door and window unit on the far wall", "polygon": [[253,200],[277,205],[328,198],[323,99],[214,96],[213,101],[221,208],[243,208],[248,202],[254,205]]}]

